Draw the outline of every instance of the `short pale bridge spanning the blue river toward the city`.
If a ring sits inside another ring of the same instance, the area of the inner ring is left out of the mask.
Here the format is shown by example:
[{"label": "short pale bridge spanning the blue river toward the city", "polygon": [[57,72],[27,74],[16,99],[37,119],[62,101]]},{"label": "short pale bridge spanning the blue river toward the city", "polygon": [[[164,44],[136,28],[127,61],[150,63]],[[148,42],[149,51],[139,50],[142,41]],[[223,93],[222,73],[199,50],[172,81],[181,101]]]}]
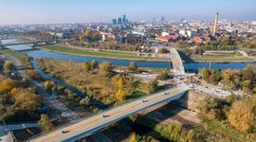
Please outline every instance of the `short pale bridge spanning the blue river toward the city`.
[{"label": "short pale bridge spanning the blue river toward the city", "polygon": [[185,75],[185,69],[183,62],[175,48],[170,48],[170,56],[171,56],[171,62],[173,63],[174,67],[174,75],[175,76],[182,76]]}]

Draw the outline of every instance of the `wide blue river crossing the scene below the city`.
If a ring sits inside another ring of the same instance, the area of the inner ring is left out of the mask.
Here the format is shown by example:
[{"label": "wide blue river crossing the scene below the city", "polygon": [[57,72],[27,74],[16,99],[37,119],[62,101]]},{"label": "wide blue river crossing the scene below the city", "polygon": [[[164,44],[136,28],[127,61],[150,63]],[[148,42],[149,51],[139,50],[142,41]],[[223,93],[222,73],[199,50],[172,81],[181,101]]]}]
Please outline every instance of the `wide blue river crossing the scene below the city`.
[{"label": "wide blue river crossing the scene below the city", "polygon": [[[15,43],[15,40],[3,40],[3,44],[5,43]],[[8,46],[10,49],[27,49],[30,48],[29,45],[11,45]],[[68,54],[61,54],[56,52],[46,51],[44,49],[41,50],[33,50],[33,51],[26,51],[25,52],[28,56],[33,57],[35,60],[39,58],[52,58],[54,60],[59,61],[74,61],[74,62],[113,62],[114,65],[119,66],[128,66],[131,61],[129,60],[120,60],[120,59],[104,59],[99,57],[89,57],[89,56],[78,56],[78,55],[68,55]],[[135,61],[137,66],[139,67],[154,67],[154,68],[170,68],[169,62],[142,62],[142,61]],[[243,69],[247,66],[247,64],[254,64],[255,62],[213,62],[211,68],[213,69]],[[209,68],[209,62],[191,62],[185,63],[184,67],[187,70],[198,70],[200,68],[206,67]]]}]

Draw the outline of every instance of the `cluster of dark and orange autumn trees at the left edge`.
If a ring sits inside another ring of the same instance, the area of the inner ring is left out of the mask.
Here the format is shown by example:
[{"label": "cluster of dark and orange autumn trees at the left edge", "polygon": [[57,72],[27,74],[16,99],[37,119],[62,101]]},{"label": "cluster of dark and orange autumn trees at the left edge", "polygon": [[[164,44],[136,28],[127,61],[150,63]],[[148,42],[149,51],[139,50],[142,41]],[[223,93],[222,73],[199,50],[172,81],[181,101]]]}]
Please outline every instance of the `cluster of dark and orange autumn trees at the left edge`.
[{"label": "cluster of dark and orange autumn trees at the left edge", "polygon": [[[2,65],[1,65],[2,66]],[[37,121],[38,110],[43,106],[40,96],[26,79],[10,76],[14,64],[5,62],[4,72],[0,73],[0,122]]]}]

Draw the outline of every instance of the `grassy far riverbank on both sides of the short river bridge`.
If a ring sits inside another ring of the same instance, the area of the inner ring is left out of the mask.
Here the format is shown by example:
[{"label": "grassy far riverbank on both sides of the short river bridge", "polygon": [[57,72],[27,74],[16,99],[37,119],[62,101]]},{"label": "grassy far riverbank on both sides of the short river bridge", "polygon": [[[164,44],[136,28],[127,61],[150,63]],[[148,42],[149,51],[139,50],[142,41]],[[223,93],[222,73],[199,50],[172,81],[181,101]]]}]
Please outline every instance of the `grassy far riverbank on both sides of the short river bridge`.
[{"label": "grassy far riverbank on both sides of the short river bridge", "polygon": [[[104,59],[121,59],[130,61],[145,61],[145,62],[169,62],[165,59],[154,59],[153,57],[137,56],[136,53],[123,52],[123,51],[95,51],[93,49],[81,49],[76,47],[70,47],[65,45],[44,45],[39,48],[45,49],[51,52],[57,52],[62,54],[77,55],[77,56],[89,56],[98,57]],[[224,55],[206,55],[206,56],[192,56],[190,58],[192,62],[256,62],[255,60],[247,57],[239,56],[224,56]],[[187,61],[183,59],[184,61]]]}]

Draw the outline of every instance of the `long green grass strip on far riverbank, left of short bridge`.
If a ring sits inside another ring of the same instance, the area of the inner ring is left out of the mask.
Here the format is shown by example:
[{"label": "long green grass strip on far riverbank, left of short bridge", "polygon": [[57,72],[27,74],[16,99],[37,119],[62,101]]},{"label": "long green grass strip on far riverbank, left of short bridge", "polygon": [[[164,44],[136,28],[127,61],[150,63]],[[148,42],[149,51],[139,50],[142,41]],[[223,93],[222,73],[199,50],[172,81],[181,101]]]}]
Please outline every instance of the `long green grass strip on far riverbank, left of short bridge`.
[{"label": "long green grass strip on far riverbank, left of short bridge", "polygon": [[103,57],[103,58],[118,58],[118,59],[129,59],[129,60],[154,60],[152,57],[137,56],[132,53],[125,53],[119,51],[94,51],[89,49],[77,49],[71,48],[64,45],[44,45],[40,46],[46,50],[67,53],[67,54],[76,54],[92,57]]}]

